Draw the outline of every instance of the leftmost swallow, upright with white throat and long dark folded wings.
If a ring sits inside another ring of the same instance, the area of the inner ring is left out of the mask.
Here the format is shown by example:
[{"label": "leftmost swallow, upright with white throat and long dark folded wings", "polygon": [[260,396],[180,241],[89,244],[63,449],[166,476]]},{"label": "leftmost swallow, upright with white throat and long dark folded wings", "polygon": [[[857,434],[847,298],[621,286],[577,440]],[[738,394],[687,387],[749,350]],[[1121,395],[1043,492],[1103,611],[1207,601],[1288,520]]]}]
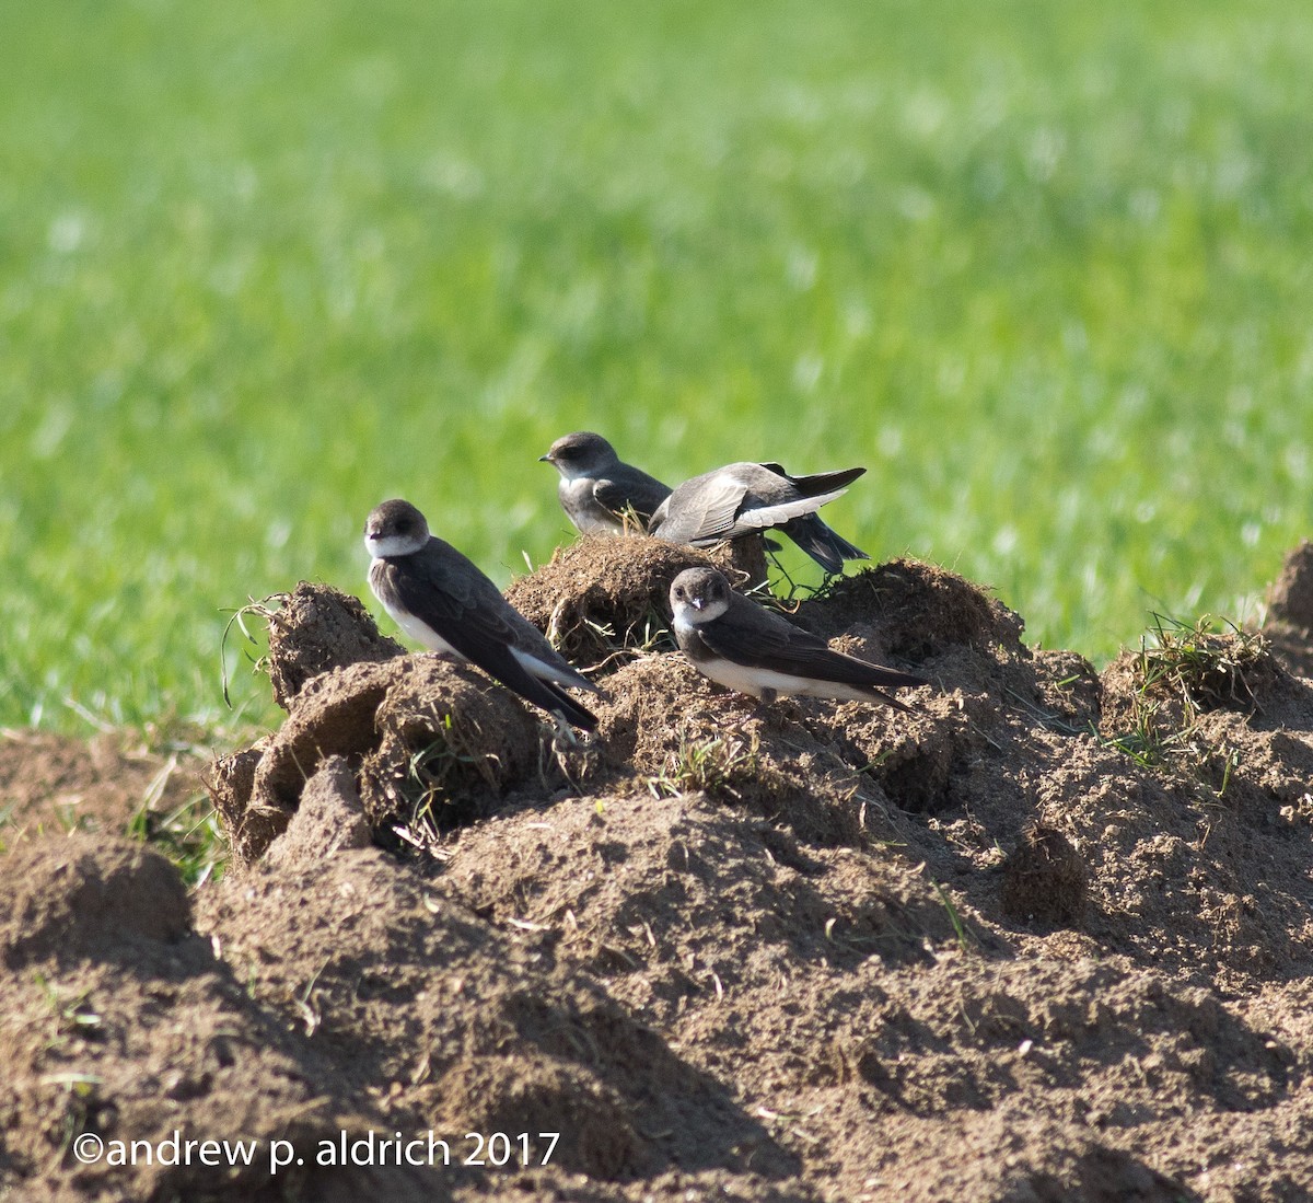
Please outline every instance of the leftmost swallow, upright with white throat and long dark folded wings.
[{"label": "leftmost swallow, upright with white throat and long dark folded wings", "polygon": [[376,507],[365,523],[369,587],[412,640],[478,665],[521,697],[584,730],[597,718],[563,687],[597,692],[498,587],[449,542],[428,533],[410,502]]}]

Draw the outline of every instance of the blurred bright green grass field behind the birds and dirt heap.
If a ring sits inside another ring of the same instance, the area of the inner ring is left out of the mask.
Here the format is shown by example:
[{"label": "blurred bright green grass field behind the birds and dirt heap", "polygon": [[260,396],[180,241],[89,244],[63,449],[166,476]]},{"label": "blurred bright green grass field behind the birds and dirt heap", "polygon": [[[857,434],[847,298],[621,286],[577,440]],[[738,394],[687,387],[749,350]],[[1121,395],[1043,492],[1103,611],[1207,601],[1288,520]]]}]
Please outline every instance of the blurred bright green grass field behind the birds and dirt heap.
[{"label": "blurred bright green grass field behind the birds and dirt heap", "polygon": [[504,582],[579,427],[865,464],[835,527],[1049,646],[1253,615],[1313,525],[1310,59],[1297,0],[11,5],[0,724],[269,721],[223,608],[368,592],[391,495]]}]

